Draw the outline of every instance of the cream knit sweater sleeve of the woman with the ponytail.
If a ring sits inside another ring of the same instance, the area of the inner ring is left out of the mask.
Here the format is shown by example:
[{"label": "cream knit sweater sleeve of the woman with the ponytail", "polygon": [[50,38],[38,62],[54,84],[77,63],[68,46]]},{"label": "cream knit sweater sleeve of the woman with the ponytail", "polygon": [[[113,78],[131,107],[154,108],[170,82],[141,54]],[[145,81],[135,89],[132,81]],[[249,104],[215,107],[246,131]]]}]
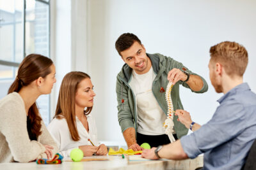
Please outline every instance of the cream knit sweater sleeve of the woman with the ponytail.
[{"label": "cream knit sweater sleeve of the woman with the ponytail", "polygon": [[8,101],[0,110],[0,131],[4,135],[13,159],[17,162],[30,162],[45,152],[45,147],[38,141],[31,141],[28,136],[26,113],[18,101]]}]

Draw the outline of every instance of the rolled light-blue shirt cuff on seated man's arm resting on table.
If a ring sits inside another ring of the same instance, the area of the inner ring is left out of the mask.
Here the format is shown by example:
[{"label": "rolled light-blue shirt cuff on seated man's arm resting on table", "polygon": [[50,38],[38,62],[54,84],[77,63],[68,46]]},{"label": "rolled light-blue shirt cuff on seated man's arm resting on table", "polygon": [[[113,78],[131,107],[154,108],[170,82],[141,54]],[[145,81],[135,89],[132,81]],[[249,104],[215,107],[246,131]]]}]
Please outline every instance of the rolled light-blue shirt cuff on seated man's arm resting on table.
[{"label": "rolled light-blue shirt cuff on seated man's arm resting on table", "polygon": [[196,146],[196,140],[194,134],[189,134],[188,136],[183,136],[180,139],[180,143],[185,153],[187,153],[190,159],[194,159],[202,152],[199,150],[198,146]]}]

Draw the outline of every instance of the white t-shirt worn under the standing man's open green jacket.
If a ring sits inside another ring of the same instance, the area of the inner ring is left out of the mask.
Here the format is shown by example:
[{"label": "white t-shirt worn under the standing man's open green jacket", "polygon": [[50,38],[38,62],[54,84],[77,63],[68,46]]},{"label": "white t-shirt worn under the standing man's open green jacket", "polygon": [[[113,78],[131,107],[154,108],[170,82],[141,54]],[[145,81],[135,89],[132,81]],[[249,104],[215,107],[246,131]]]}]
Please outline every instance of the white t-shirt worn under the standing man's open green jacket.
[{"label": "white t-shirt worn under the standing man's open green jacket", "polygon": [[156,78],[156,74],[151,67],[145,74],[137,74],[132,71],[132,78],[129,82],[136,96],[138,132],[145,135],[164,134],[163,123],[166,115],[152,92],[154,78]]}]

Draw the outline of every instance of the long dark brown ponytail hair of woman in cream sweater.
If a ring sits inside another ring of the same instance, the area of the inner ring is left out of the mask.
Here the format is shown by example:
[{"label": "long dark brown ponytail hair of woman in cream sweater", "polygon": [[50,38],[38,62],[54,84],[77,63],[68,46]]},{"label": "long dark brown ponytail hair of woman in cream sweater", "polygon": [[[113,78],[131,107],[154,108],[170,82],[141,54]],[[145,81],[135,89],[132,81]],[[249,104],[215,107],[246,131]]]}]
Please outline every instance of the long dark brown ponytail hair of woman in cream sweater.
[{"label": "long dark brown ponytail hair of woman in cream sweater", "polygon": [[[50,66],[52,66],[52,64],[52,60],[44,57],[43,55],[32,53],[25,57],[20,63],[17,77],[10,86],[8,94],[12,92],[19,92],[22,87],[29,85],[39,77],[45,78],[47,74],[51,73]],[[38,136],[42,134],[42,118],[39,116],[36,103],[33,103],[29,108],[28,117],[31,125],[31,132],[36,136],[36,138],[38,138]]]}]

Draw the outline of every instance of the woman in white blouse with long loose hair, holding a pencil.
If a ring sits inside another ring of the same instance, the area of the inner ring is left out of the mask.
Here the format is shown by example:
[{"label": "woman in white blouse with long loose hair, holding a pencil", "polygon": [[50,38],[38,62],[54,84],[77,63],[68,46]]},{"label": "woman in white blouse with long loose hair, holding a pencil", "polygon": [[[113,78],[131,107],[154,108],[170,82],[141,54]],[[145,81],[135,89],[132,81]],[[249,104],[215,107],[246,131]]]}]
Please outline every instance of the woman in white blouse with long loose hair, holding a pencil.
[{"label": "woman in white blouse with long loose hair, holding a pencil", "polygon": [[70,157],[74,148],[81,149],[84,156],[108,153],[108,148],[97,139],[95,120],[90,115],[94,96],[88,74],[72,71],[64,76],[55,116],[48,126],[63,157]]}]

